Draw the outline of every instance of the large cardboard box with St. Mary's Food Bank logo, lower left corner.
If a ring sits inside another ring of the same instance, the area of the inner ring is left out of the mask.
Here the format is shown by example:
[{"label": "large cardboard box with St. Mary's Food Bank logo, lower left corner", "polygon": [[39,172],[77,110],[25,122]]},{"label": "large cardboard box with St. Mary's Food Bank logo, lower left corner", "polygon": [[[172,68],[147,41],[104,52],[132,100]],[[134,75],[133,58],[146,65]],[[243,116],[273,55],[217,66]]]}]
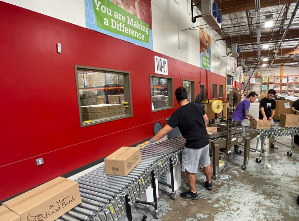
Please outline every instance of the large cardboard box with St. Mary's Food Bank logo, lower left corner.
[{"label": "large cardboard box with St. Mary's Food Bank logo, lower left corner", "polygon": [[79,203],[81,197],[78,183],[57,177],[3,205],[18,215],[20,221],[54,221]]}]

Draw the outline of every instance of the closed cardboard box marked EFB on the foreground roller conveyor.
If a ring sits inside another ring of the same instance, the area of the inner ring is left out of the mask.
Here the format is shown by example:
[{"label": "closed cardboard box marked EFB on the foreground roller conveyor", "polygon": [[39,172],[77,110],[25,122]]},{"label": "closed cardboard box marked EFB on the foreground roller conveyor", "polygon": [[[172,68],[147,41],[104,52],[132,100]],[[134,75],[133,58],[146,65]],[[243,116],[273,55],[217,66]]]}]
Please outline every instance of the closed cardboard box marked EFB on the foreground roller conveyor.
[{"label": "closed cardboard box marked EFB on the foreground roller conveyor", "polygon": [[123,146],[104,159],[106,174],[126,176],[140,161],[139,147]]}]

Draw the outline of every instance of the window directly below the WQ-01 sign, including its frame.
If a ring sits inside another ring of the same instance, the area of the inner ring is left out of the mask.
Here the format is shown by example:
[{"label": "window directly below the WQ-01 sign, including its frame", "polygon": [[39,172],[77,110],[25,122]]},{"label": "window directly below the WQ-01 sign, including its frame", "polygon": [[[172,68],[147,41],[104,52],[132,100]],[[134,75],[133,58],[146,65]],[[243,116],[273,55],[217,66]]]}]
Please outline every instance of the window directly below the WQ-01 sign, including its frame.
[{"label": "window directly below the WQ-01 sign, including its frame", "polygon": [[173,108],[172,78],[150,75],[152,112]]}]

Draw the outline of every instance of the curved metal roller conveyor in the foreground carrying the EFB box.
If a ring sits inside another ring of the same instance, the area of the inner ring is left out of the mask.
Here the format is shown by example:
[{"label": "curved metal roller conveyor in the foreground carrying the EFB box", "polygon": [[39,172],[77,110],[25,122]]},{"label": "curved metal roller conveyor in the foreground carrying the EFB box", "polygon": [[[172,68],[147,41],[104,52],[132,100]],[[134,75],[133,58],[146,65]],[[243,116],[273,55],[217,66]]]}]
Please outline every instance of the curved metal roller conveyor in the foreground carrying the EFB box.
[{"label": "curved metal roller conveyor in the foreground carrying the EFB box", "polygon": [[[57,221],[117,221],[127,216],[132,220],[131,205],[135,202],[152,205],[155,217],[162,215],[158,208],[155,179],[170,170],[172,189],[170,198],[176,198],[173,182],[173,166],[181,163],[185,139],[175,137],[154,143],[141,149],[141,162],[126,176],[106,175],[105,165],[79,177],[82,203],[68,211]],[[160,181],[159,181],[160,182]],[[147,188],[152,187],[154,202],[140,201]]]}]

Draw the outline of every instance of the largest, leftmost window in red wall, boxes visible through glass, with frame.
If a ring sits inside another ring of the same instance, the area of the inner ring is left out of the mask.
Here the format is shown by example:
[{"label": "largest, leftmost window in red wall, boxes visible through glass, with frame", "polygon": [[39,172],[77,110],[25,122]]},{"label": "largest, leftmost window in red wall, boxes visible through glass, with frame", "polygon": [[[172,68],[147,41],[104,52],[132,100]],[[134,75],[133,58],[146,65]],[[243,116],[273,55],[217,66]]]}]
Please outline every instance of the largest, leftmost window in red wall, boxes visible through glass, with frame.
[{"label": "largest, leftmost window in red wall, boxes visible through glass, with frame", "polygon": [[130,73],[75,66],[81,127],[132,116]]}]

